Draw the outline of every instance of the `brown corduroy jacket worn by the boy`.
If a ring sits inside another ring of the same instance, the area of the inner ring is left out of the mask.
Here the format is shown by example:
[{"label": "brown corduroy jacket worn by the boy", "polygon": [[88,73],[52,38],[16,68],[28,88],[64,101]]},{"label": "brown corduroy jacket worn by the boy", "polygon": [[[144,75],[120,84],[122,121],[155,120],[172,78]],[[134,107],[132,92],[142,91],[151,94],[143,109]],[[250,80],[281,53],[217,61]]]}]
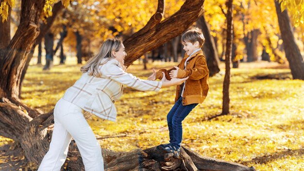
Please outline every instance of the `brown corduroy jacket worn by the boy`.
[{"label": "brown corduroy jacket worn by the boy", "polygon": [[[177,73],[177,78],[189,78],[185,82],[185,90],[183,93],[183,105],[188,105],[192,103],[203,103],[205,100],[208,90],[209,90],[209,69],[207,68],[207,63],[203,51],[195,52],[187,61],[185,68],[185,61],[188,58],[188,55],[185,54],[184,59],[177,66],[180,68]],[[184,69],[185,68],[185,69]],[[163,74],[165,73],[166,78],[171,80],[169,73],[175,68],[160,69],[156,72],[156,79],[162,79]],[[176,87],[176,96],[175,102],[180,96],[180,89],[183,88],[181,85]]]}]

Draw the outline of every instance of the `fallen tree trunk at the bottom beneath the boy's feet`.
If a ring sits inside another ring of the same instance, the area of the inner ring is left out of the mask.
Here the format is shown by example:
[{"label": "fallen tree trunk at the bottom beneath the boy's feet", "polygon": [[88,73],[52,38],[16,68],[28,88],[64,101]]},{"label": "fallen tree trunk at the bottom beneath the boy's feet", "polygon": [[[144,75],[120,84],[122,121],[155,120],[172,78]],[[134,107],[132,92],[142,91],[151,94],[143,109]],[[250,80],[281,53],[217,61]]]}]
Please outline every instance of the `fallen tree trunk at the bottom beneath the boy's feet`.
[{"label": "fallen tree trunk at the bottom beneath the boy's feet", "polygon": [[[84,171],[75,143],[72,142],[70,147],[67,170]],[[163,153],[158,146],[127,153],[101,149],[101,153],[105,171],[255,171],[253,167],[203,157],[185,147],[181,147],[180,158],[173,158],[173,154]]]}]

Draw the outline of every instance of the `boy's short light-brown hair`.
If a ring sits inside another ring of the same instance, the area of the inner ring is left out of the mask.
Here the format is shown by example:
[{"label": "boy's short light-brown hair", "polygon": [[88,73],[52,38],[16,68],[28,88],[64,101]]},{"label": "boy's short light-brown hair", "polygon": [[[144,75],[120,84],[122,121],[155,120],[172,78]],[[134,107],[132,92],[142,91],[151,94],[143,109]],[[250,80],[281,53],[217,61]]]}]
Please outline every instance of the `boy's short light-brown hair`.
[{"label": "boy's short light-brown hair", "polygon": [[197,27],[193,27],[192,29],[186,31],[181,38],[182,43],[191,42],[194,44],[196,41],[199,42],[199,46],[202,48],[205,42],[205,37],[203,36],[202,30]]}]

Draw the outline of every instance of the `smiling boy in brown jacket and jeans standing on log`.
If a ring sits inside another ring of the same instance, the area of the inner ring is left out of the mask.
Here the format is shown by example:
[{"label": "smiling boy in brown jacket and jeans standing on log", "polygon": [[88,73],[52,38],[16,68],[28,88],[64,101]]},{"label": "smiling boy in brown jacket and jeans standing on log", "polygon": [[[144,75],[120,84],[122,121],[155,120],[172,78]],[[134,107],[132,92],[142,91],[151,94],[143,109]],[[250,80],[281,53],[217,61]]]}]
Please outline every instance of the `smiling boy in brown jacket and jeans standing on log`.
[{"label": "smiling boy in brown jacket and jeans standing on log", "polygon": [[183,34],[181,41],[186,51],[181,63],[169,70],[160,69],[158,72],[153,70],[152,75],[148,78],[153,81],[162,79],[162,72],[165,73],[168,80],[189,77],[182,85],[176,87],[175,104],[167,115],[170,141],[169,144],[160,145],[162,150],[173,153],[175,157],[179,157],[182,143],[182,121],[198,103],[203,103],[209,89],[209,70],[201,50],[205,41],[201,29],[188,30]]}]

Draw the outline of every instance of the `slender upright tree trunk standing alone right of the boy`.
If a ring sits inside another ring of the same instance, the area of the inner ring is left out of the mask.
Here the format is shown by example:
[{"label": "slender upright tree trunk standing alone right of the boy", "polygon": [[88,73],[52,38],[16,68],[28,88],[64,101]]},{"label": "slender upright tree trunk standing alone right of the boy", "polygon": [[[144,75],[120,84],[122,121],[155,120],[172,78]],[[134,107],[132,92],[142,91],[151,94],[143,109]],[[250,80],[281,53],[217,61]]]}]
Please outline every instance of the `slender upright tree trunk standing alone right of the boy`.
[{"label": "slender upright tree trunk standing alone right of the boy", "polygon": [[226,41],[226,53],[225,53],[225,78],[223,83],[223,106],[222,115],[229,113],[229,85],[230,85],[230,60],[232,51],[232,41],[233,41],[233,0],[228,0],[227,2],[227,41]]}]

